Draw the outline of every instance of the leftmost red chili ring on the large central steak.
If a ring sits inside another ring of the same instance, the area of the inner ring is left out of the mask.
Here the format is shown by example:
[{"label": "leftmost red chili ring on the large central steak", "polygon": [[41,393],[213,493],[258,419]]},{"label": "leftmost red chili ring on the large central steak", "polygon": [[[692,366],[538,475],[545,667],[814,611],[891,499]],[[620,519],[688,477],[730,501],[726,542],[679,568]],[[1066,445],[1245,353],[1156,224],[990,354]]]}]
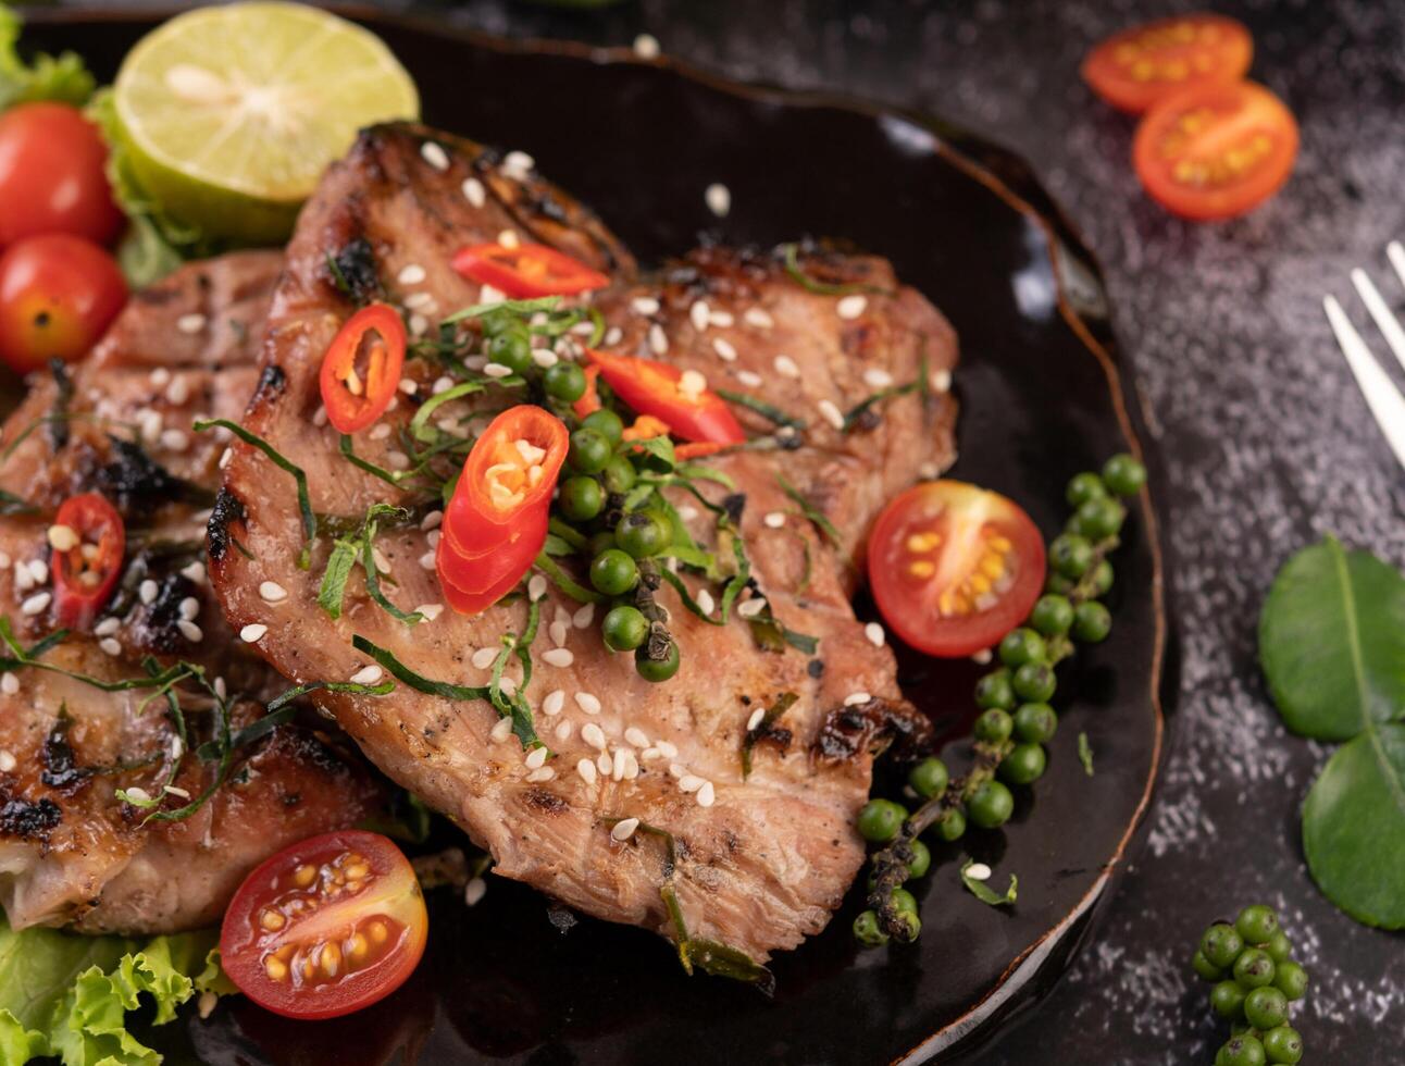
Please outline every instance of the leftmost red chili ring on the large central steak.
[{"label": "leftmost red chili ring on the large central steak", "polygon": [[388,303],[361,308],[346,320],[322,357],[322,403],[340,433],[379,419],[400,388],[405,323]]}]

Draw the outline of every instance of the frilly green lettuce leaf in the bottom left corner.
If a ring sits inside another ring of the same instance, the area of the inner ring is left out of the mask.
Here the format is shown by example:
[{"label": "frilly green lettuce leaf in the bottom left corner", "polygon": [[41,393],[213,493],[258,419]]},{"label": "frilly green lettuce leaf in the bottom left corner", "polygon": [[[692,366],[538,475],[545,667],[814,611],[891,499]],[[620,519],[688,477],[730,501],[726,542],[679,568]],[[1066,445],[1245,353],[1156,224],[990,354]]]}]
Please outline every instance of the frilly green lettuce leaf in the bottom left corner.
[{"label": "frilly green lettuce leaf in the bottom left corner", "polygon": [[214,930],[135,940],[0,921],[0,1062],[155,1066],[160,1055],[128,1032],[126,1014],[149,1001],[163,1025],[195,994],[233,992],[216,941]]}]

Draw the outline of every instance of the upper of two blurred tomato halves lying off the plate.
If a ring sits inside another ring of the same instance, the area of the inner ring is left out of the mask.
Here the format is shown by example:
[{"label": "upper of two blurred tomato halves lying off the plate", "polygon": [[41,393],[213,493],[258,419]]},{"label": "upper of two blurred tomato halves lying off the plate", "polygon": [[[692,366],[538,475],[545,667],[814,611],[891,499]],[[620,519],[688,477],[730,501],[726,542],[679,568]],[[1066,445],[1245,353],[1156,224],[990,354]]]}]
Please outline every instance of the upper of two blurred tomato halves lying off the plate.
[{"label": "upper of two blurred tomato halves lying off the plate", "polygon": [[1190,86],[1238,81],[1253,59],[1243,22],[1180,15],[1113,34],[1083,60],[1083,80],[1116,108],[1141,114]]}]

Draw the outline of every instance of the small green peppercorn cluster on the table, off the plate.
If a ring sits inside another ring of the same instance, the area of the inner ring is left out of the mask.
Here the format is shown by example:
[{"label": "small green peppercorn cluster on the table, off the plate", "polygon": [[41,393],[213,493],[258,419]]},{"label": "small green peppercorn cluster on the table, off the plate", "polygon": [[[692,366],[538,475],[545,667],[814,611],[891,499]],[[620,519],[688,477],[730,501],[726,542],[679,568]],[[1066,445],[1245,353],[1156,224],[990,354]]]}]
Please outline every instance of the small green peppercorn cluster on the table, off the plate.
[{"label": "small green peppercorn cluster on the table, off the plate", "polygon": [[1302,1038],[1288,1025],[1288,1004],[1308,990],[1308,973],[1293,961],[1293,944],[1272,907],[1256,903],[1234,924],[1217,921],[1200,937],[1191,969],[1215,982],[1210,1006],[1232,1027],[1215,1066],[1295,1063]]}]

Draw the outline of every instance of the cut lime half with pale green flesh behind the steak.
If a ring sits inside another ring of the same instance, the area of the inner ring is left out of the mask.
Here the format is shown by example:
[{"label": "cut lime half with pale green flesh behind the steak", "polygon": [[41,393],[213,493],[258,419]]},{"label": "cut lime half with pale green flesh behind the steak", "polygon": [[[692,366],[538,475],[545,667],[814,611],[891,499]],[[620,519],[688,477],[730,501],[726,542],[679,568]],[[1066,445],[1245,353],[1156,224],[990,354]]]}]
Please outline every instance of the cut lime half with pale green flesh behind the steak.
[{"label": "cut lime half with pale green flesh behind the steak", "polygon": [[122,146],[171,218],[243,244],[287,237],[361,126],[416,118],[375,34],[315,7],[202,7],[153,29],[117,74]]}]

